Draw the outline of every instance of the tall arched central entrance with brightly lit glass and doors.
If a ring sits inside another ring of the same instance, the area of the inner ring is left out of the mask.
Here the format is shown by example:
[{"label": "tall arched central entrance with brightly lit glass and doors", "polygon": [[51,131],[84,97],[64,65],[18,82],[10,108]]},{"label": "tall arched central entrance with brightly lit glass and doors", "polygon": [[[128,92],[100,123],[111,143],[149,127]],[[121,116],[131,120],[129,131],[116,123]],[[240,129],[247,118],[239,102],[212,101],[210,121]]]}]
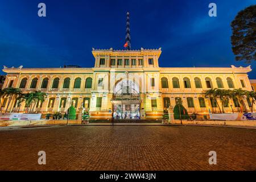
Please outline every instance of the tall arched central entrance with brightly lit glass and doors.
[{"label": "tall arched central entrance with brightly lit glass and doors", "polygon": [[139,86],[133,80],[123,79],[115,84],[113,104],[114,119],[139,119],[141,98]]}]

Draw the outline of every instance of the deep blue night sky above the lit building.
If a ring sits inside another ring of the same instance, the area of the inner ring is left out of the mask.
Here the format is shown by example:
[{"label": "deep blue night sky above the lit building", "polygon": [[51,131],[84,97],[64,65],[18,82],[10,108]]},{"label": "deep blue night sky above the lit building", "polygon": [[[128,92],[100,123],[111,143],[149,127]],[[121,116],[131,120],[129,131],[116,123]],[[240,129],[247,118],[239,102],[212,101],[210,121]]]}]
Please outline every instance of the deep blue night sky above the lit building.
[{"label": "deep blue night sky above the lit building", "polygon": [[[38,16],[40,2],[45,18]],[[217,17],[208,16],[210,2]],[[123,48],[130,11],[132,49],[162,47],[160,67],[244,67],[249,64],[234,59],[230,22],[253,2],[0,0],[0,66],[93,67],[92,47]]]}]

